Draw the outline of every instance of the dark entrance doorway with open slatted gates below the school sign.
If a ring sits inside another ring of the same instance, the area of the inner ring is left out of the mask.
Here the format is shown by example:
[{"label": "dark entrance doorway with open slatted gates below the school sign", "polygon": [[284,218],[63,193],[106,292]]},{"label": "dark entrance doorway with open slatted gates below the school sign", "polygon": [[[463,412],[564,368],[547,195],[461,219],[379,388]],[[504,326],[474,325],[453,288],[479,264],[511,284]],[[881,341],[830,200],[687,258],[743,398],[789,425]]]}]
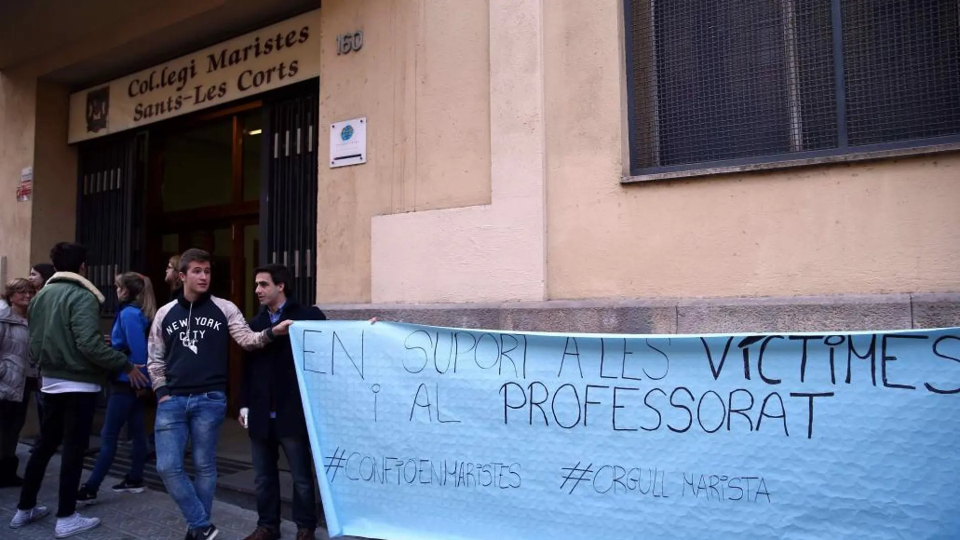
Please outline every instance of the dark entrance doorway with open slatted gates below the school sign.
[{"label": "dark entrance doorway with open slatted gates below the school sign", "polygon": [[[300,82],[79,145],[77,242],[89,249],[87,277],[107,297],[105,332],[119,306],[113,277],[149,275],[162,305],[167,261],[189,247],[211,253],[212,293],[247,317],[257,310],[252,271],[268,262],[290,268],[295,301],[316,301],[319,90],[316,79]],[[229,416],[242,354],[230,351]],[[152,429],[152,410],[147,421]]]}]

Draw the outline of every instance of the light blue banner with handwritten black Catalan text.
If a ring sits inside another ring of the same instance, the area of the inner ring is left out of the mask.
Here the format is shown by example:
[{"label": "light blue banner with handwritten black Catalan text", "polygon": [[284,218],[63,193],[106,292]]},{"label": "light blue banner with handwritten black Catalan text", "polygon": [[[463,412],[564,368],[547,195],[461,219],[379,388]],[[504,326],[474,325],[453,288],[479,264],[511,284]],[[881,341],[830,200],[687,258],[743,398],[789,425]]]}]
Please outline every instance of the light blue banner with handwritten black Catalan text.
[{"label": "light blue banner with handwritten black Catalan text", "polygon": [[330,535],[960,537],[960,329],[291,330]]}]

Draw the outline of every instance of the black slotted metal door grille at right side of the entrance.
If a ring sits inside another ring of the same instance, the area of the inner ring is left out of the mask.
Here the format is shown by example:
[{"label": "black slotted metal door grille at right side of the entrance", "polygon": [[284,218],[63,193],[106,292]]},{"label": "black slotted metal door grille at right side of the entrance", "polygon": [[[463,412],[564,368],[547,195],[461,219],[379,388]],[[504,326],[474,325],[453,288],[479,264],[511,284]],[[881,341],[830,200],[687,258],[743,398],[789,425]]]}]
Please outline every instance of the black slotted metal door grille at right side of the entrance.
[{"label": "black slotted metal door grille at right side of the entrance", "polygon": [[317,138],[320,99],[313,91],[268,105],[264,177],[265,215],[261,217],[261,260],[278,263],[293,275],[293,296],[305,305],[317,301]]}]

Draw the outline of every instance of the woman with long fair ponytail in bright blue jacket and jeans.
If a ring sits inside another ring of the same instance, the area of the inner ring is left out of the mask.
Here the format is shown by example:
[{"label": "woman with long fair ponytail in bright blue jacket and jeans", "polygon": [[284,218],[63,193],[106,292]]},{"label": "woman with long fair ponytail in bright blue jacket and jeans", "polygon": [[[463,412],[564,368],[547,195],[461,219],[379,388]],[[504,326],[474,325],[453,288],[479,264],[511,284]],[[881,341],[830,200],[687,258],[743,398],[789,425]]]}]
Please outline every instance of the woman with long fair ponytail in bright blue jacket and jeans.
[{"label": "woman with long fair ponytail in bright blue jacket and jeans", "polygon": [[[115,280],[120,309],[113,320],[110,346],[127,353],[132,364],[147,374],[147,333],[156,316],[156,297],[150,278],[136,272],[120,274]],[[142,390],[139,390],[142,391]],[[144,408],[139,391],[130,377],[120,373],[112,381],[107,401],[107,417],[100,434],[100,454],[90,478],[77,493],[77,503],[92,505],[97,491],[109,472],[116,455],[120,430],[128,425],[132,434],[131,467],[124,481],[114,485],[114,493],[143,493],[143,466],[147,459],[147,433],[144,427]]]}]

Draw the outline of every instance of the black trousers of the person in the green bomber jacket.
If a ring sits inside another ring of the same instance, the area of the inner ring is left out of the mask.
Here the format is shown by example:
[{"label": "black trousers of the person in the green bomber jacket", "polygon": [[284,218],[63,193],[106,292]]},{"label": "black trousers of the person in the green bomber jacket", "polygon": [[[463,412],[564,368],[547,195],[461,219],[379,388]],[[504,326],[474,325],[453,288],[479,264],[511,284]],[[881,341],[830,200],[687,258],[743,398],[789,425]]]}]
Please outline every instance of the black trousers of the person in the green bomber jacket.
[{"label": "black trousers of the person in the green bomber jacket", "polygon": [[84,453],[90,443],[90,428],[97,407],[97,396],[97,392],[43,394],[40,442],[27,461],[18,508],[29,510],[36,506],[36,494],[47,472],[47,464],[62,442],[60,507],[57,517],[69,517],[77,511],[77,490],[84,472]]}]

